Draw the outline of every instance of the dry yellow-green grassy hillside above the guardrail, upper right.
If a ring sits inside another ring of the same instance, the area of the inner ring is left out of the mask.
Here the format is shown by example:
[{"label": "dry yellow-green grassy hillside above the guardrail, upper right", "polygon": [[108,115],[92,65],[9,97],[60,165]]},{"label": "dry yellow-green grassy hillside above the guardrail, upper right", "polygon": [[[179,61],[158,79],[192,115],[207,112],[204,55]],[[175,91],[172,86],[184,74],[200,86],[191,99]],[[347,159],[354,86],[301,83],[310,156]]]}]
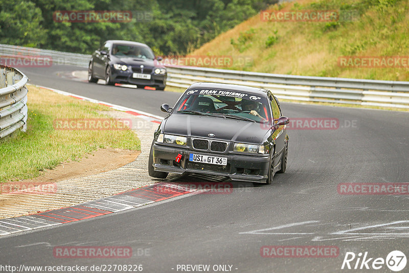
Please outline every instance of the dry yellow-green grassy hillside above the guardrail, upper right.
[{"label": "dry yellow-green grassy hillside above the guardrail, upper right", "polygon": [[[340,56],[409,56],[409,2],[306,0],[273,9],[358,11],[358,20],[266,22],[260,14],[220,34],[191,55],[251,56],[253,63],[226,69],[376,80],[409,80],[409,68],[340,67]],[[277,31],[277,33],[275,33]],[[268,40],[272,41],[269,45]]]}]

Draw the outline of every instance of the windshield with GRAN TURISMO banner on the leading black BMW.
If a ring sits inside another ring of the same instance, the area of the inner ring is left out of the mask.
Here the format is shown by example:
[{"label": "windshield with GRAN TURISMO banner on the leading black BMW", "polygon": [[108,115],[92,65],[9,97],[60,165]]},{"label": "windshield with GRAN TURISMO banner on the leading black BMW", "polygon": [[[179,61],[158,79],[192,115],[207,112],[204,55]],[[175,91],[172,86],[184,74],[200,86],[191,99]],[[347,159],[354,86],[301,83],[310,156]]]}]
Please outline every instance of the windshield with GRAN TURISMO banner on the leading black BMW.
[{"label": "windshield with GRAN TURISMO banner on the leading black BMW", "polygon": [[203,113],[264,123],[270,119],[267,99],[243,92],[220,89],[190,89],[175,106],[179,113]]}]

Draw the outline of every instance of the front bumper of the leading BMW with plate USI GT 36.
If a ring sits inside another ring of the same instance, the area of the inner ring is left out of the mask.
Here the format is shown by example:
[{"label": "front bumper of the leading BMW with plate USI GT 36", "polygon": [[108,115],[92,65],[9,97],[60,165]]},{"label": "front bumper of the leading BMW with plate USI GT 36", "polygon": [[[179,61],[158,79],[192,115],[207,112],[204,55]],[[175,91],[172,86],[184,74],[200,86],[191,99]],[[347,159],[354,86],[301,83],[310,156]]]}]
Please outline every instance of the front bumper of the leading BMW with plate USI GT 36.
[{"label": "front bumper of the leading BMW with plate USI GT 36", "polygon": [[[268,167],[270,164],[269,155],[247,155],[236,153],[209,153],[192,150],[187,147],[170,147],[162,144],[154,144],[153,167],[155,171],[183,174],[203,173],[211,175],[228,176],[232,180],[265,183],[267,179]],[[179,163],[175,161],[178,153],[182,154]],[[189,153],[222,156],[228,158],[228,165],[214,165],[205,163],[195,163],[189,161]]]}]

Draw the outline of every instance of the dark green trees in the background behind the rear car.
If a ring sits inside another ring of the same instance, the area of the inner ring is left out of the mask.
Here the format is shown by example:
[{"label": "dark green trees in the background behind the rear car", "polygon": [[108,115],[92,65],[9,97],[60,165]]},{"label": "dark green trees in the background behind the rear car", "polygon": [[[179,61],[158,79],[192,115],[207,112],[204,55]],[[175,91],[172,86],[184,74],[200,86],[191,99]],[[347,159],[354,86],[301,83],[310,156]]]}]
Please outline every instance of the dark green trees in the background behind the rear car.
[{"label": "dark green trees in the background behind the rear car", "polygon": [[[4,44],[90,54],[108,39],[147,43],[158,55],[185,54],[278,0],[0,0]],[[151,21],[55,22],[55,11],[151,12]]]}]

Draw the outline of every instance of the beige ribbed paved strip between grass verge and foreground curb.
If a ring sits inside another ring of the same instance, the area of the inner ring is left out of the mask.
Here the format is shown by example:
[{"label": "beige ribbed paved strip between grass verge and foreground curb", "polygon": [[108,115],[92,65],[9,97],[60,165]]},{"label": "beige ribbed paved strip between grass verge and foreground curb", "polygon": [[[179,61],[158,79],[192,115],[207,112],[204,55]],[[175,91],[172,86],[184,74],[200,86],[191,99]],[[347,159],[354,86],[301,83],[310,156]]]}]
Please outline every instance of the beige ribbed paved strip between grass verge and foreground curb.
[{"label": "beige ribbed paved strip between grass verge and foreground curb", "polygon": [[[148,175],[148,156],[153,131],[158,123],[149,121],[146,116],[135,116],[123,111],[106,113],[113,118],[131,119],[131,129],[141,140],[141,154],[138,158],[116,170],[56,182],[53,185],[55,193],[0,194],[0,219],[69,207],[163,181]],[[174,177],[176,175],[169,174],[167,180]]]}]

